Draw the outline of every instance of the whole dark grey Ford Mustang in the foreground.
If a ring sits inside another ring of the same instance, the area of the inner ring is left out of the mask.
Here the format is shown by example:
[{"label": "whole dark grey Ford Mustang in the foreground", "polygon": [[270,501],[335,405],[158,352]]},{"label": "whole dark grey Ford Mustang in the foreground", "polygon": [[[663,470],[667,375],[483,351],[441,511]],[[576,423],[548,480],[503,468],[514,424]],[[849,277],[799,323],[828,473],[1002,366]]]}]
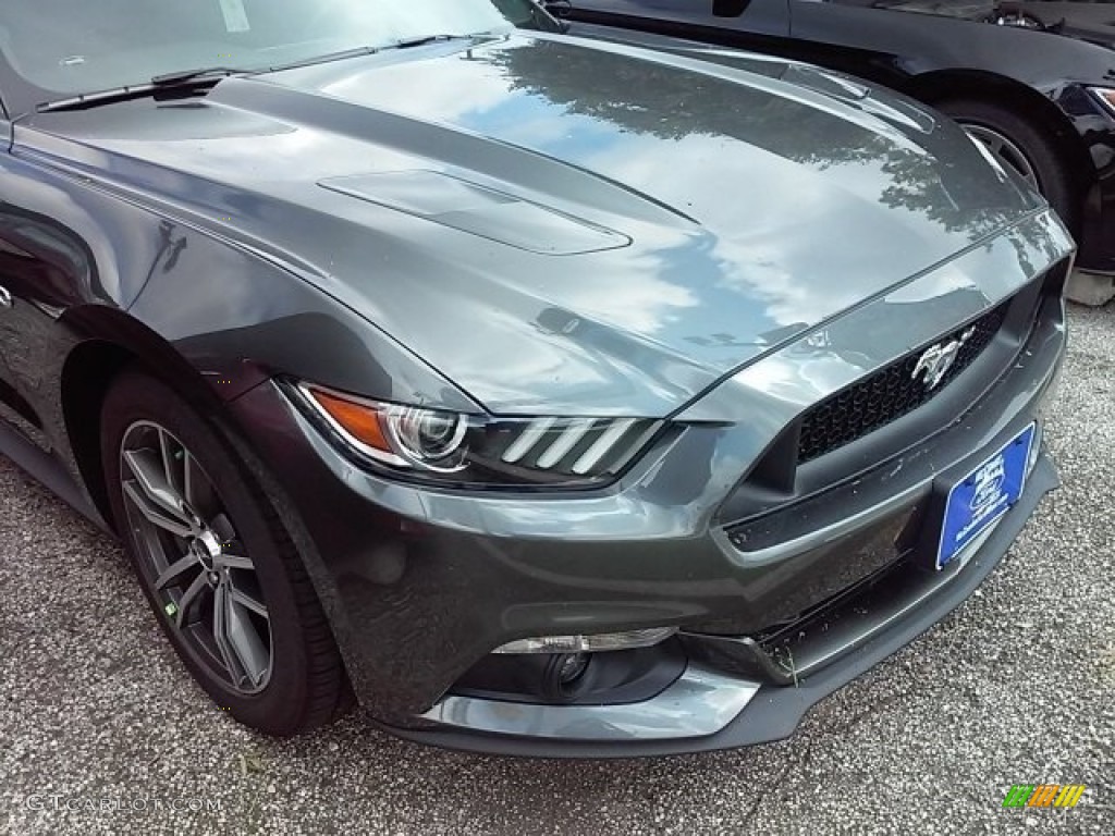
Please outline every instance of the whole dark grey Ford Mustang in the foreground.
[{"label": "whole dark grey Ford Mustang in the foreground", "polygon": [[28,0],[0,100],[0,450],[253,728],[782,737],[1056,485],[1072,239],[885,90],[526,0]]}]

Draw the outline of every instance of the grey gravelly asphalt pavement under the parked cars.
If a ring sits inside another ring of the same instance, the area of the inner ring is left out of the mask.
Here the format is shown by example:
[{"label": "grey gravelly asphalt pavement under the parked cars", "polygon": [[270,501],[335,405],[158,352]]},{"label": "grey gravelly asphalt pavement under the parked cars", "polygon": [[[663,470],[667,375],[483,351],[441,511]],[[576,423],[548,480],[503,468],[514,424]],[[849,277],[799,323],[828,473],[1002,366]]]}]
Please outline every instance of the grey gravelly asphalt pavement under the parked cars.
[{"label": "grey gravelly asphalt pavement under the parked cars", "polygon": [[[274,741],[187,678],[119,548],[0,458],[0,833],[1115,834],[1115,303],[1072,310],[1063,487],[931,632],[793,738],[475,757],[350,717]],[[1072,809],[1015,784],[1085,784]]]}]

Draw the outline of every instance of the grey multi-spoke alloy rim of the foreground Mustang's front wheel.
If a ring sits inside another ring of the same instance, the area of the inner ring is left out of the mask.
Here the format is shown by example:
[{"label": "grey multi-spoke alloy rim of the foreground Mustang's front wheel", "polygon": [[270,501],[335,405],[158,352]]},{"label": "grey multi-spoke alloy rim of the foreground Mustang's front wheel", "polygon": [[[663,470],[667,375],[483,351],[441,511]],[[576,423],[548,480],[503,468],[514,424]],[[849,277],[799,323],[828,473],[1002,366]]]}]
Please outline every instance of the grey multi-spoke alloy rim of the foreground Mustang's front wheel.
[{"label": "grey multi-spoke alloy rim of the foreground Mustang's front wheel", "polygon": [[201,463],[165,427],[136,421],[120,441],[120,482],[144,582],[171,628],[226,687],[262,690],[274,660],[270,615]]}]

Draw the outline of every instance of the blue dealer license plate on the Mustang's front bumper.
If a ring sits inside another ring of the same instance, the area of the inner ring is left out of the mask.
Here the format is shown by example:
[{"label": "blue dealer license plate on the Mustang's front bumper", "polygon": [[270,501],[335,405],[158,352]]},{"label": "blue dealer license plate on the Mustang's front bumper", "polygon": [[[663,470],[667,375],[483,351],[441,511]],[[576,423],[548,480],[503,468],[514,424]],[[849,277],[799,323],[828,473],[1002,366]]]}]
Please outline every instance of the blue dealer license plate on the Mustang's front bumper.
[{"label": "blue dealer license plate on the Mustang's front bumper", "polygon": [[1026,484],[1035,431],[1031,424],[949,490],[941,543],[937,550],[938,568],[960,554],[1018,502]]}]

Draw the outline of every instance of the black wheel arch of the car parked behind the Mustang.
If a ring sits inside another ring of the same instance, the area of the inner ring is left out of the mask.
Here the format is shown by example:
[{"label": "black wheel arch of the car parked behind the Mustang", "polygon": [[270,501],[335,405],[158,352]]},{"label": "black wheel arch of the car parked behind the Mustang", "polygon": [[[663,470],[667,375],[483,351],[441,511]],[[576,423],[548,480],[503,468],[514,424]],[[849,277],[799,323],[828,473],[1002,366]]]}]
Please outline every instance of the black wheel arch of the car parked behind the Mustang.
[{"label": "black wheel arch of the car parked behind the Mustang", "polygon": [[1088,149],[1069,118],[1053,100],[1021,81],[987,70],[941,69],[913,76],[902,93],[930,106],[949,99],[1007,106],[1069,161],[1073,187],[1082,202],[1098,178]]}]

